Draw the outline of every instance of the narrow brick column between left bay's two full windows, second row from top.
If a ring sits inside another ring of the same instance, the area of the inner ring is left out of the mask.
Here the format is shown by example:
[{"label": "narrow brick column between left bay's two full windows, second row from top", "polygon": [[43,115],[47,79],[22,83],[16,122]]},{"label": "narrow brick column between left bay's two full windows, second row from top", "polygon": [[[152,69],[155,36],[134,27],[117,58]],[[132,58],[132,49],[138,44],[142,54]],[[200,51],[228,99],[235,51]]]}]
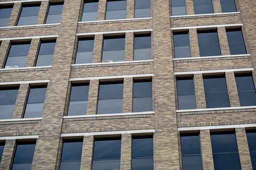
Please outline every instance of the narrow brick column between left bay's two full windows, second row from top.
[{"label": "narrow brick column between left bay's two full windows, second row from top", "polygon": [[25,67],[34,67],[40,39],[32,39]]}]

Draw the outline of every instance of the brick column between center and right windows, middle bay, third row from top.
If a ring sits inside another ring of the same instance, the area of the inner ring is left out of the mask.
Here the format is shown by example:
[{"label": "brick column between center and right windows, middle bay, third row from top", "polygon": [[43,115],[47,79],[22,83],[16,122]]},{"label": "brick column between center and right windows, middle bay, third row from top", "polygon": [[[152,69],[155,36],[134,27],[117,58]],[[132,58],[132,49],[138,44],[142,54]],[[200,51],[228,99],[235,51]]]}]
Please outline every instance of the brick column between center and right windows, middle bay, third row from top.
[{"label": "brick column between center and right windows, middle bay, third row from top", "polygon": [[133,78],[124,78],[123,113],[132,112],[132,86]]}]

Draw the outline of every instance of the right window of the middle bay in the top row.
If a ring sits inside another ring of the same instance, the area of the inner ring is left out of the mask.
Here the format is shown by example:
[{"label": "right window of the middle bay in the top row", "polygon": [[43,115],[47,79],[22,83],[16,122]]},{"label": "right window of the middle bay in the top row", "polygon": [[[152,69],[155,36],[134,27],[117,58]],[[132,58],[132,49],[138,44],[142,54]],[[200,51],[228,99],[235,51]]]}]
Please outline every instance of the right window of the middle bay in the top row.
[{"label": "right window of the middle bay in the top row", "polygon": [[135,0],[134,18],[151,17],[150,0]]}]

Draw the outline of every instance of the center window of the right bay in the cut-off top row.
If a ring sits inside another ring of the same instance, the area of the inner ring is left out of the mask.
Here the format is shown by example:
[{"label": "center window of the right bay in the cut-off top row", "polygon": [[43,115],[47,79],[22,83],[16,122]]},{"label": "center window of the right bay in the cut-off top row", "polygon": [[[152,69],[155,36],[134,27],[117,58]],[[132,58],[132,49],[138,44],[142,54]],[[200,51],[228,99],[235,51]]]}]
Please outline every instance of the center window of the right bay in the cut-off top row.
[{"label": "center window of the right bay in the cut-off top row", "polygon": [[195,14],[213,14],[212,0],[193,0]]}]

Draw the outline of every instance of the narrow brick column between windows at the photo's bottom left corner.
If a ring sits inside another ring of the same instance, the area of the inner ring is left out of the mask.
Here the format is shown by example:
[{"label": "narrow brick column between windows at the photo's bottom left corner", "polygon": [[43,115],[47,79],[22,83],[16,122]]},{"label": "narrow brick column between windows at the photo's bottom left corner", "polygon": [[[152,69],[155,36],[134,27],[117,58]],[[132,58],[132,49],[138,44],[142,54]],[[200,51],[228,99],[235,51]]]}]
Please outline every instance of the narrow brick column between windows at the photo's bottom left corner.
[{"label": "narrow brick column between windows at the photo's bottom left corner", "polygon": [[15,139],[6,140],[0,169],[10,169],[15,148]]}]

